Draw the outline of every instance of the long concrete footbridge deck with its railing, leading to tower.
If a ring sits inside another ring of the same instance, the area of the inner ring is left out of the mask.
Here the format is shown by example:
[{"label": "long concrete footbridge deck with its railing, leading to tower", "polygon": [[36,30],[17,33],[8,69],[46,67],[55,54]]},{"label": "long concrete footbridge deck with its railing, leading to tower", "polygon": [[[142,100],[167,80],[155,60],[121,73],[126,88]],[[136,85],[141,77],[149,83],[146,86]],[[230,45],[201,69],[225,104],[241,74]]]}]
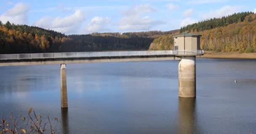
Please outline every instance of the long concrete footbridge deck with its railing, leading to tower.
[{"label": "long concrete footbridge deck with its railing, leading to tower", "polygon": [[203,55],[203,50],[0,54],[0,66],[176,60],[196,55]]}]

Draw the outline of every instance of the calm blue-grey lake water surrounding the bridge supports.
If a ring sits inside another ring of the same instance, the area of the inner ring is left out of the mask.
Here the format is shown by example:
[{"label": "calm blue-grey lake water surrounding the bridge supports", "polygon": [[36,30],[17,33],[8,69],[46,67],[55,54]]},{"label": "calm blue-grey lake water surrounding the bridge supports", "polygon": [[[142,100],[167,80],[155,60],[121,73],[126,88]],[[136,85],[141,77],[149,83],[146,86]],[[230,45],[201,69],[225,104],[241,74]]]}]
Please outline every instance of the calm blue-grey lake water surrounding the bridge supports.
[{"label": "calm blue-grey lake water surrounding the bridge supports", "polygon": [[[178,61],[0,67],[0,112],[30,107],[60,134],[256,133],[256,60],[197,58],[197,97],[178,97]],[[237,83],[235,84],[235,80]]]}]

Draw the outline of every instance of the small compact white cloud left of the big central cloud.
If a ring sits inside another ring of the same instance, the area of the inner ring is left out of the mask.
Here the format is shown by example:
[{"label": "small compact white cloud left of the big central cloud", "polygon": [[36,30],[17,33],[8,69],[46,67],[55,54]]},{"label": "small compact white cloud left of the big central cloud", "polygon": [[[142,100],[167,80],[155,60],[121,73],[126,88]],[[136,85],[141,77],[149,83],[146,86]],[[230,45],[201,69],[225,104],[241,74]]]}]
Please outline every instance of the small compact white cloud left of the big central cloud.
[{"label": "small compact white cloud left of the big central cloud", "polygon": [[100,32],[107,30],[105,27],[109,23],[110,19],[108,17],[93,17],[91,22],[88,24],[87,31],[89,32]]}]

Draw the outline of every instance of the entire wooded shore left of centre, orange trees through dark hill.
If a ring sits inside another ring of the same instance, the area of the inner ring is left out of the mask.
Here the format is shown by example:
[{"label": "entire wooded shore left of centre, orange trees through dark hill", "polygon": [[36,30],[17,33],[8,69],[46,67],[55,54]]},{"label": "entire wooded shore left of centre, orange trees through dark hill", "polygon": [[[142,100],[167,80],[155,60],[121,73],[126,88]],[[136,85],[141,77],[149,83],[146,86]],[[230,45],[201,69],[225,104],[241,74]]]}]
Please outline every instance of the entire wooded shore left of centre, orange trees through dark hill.
[{"label": "entire wooded shore left of centre, orange trees through dark hill", "polygon": [[152,38],[117,33],[66,36],[35,26],[3,24],[0,21],[0,54],[148,49],[152,41]]}]

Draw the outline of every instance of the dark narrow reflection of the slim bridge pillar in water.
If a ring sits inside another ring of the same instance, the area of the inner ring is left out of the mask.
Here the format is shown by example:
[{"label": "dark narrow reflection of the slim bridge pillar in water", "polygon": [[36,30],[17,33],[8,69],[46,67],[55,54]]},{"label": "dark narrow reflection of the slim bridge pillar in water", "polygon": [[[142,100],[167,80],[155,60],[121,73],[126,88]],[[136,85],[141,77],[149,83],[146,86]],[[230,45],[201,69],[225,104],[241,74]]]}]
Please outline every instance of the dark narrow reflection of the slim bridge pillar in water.
[{"label": "dark narrow reflection of the slim bridge pillar in water", "polygon": [[69,134],[68,108],[61,108],[61,124],[62,124],[61,134]]}]

